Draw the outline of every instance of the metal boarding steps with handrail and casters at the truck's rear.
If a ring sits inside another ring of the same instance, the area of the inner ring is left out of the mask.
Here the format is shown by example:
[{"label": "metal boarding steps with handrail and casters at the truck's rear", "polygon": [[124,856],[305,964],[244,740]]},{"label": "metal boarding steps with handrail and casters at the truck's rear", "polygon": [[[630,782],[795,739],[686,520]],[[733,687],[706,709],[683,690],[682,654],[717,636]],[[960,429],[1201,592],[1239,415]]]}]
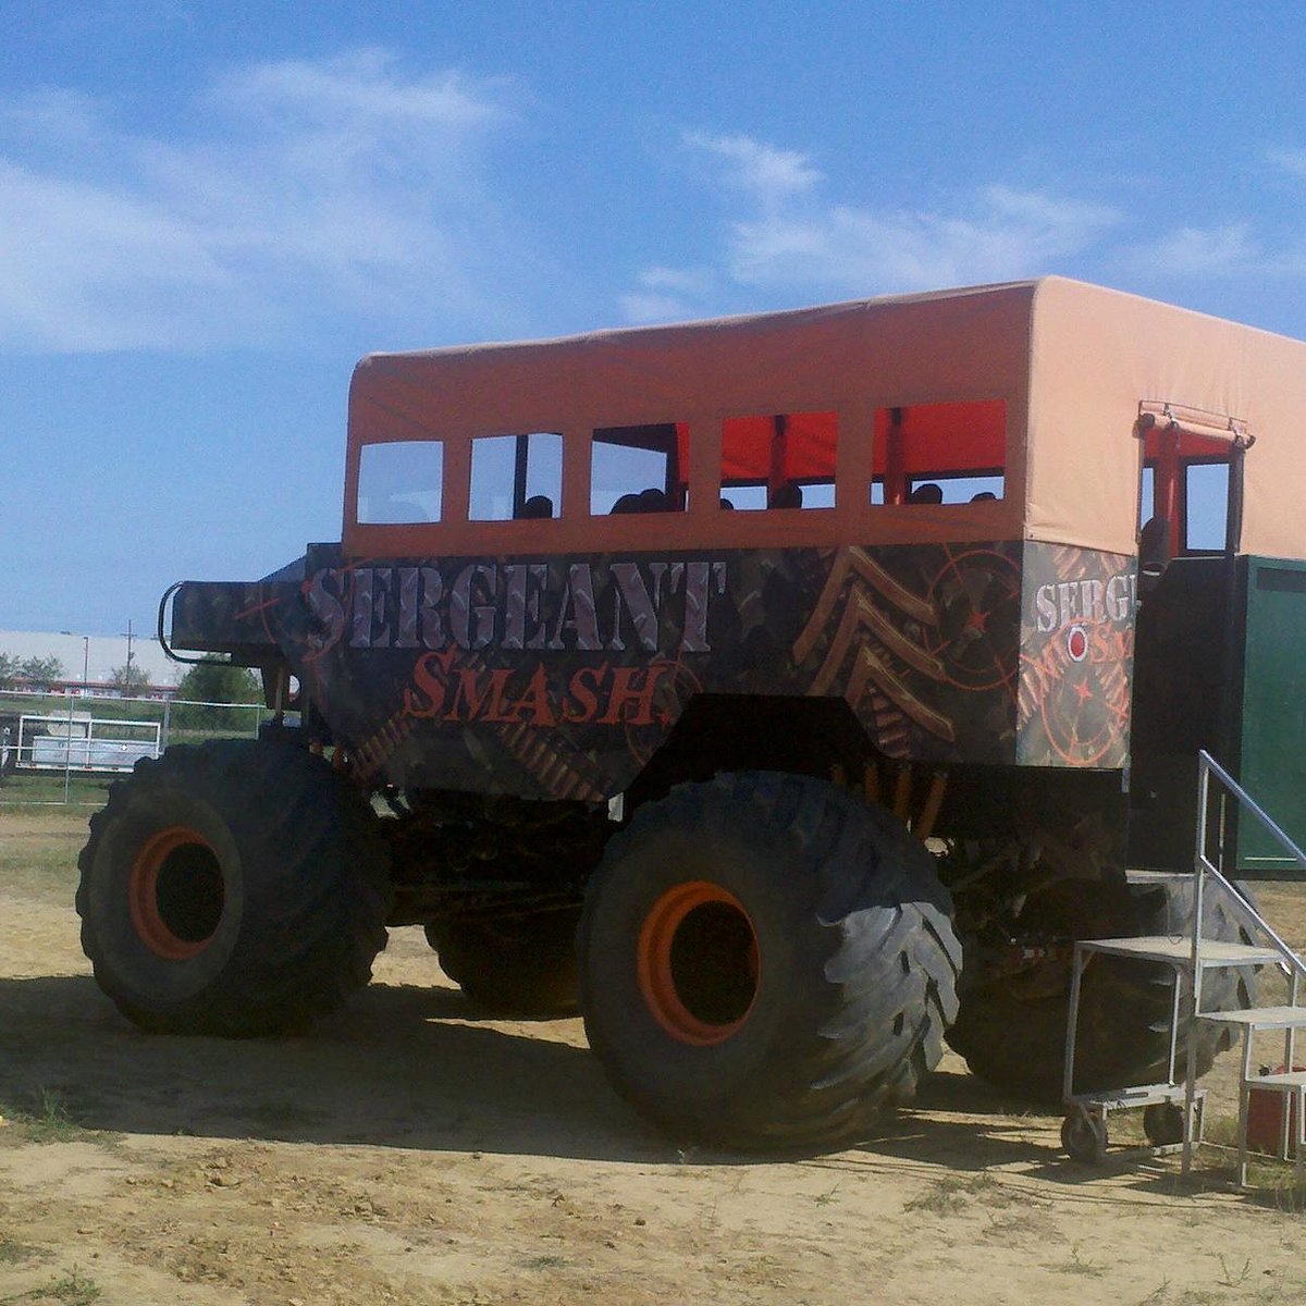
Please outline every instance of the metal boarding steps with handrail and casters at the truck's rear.
[{"label": "metal boarding steps with handrail and casters at the truck's rear", "polygon": [[[1192,1164],[1192,1148],[1202,1141],[1204,1128],[1204,1091],[1196,1087],[1199,1021],[1242,1032],[1242,1074],[1239,1076],[1238,1110],[1238,1185],[1247,1182],[1247,1126],[1252,1091],[1277,1093],[1284,1098],[1279,1155],[1296,1160],[1296,1182],[1306,1169],[1306,1071],[1296,1068],[1294,1047],[1298,1029],[1306,1029],[1306,1006],[1302,1004],[1302,980],[1306,963],[1273,931],[1260,913],[1225,878],[1208,855],[1207,831],[1211,780],[1224,785],[1243,808],[1256,818],[1280,846],[1306,870],[1303,853],[1279,825],[1255,803],[1250,794],[1207,752],[1198,755],[1198,828],[1194,863],[1192,936],[1144,936],[1135,939],[1085,939],[1075,944],[1071,972],[1070,1019],[1066,1032],[1066,1072],[1063,1097],[1067,1107],[1062,1141],[1076,1160],[1101,1161],[1106,1153],[1106,1119],[1110,1111],[1143,1107],[1143,1127],[1152,1151],[1183,1151],[1183,1173]],[[1221,821],[1222,828],[1222,821]],[[1144,872],[1145,874],[1145,872]],[[1186,872],[1185,872],[1186,874]],[[1243,931],[1254,943],[1226,943],[1204,939],[1202,919],[1208,893],[1228,896]],[[1171,968],[1173,1007],[1170,1012],[1170,1055],[1166,1080],[1136,1084],[1096,1093],[1075,1093],[1075,1042],[1084,969],[1094,956],[1134,957],[1157,961]],[[1208,970],[1225,966],[1277,966],[1288,978],[1288,1003],[1276,1007],[1252,1007],[1246,1011],[1204,1011],[1202,981]],[[1185,980],[1187,981],[1185,983]],[[1185,1002],[1185,998],[1187,999]],[[1187,1067],[1183,1079],[1177,1076],[1181,1030],[1187,1030]],[[1252,1055],[1258,1033],[1281,1033],[1282,1070],[1252,1074]],[[1296,1110],[1292,1109],[1296,1104]],[[1293,1128],[1289,1128],[1289,1124]],[[1292,1136],[1290,1136],[1292,1135]]]}]

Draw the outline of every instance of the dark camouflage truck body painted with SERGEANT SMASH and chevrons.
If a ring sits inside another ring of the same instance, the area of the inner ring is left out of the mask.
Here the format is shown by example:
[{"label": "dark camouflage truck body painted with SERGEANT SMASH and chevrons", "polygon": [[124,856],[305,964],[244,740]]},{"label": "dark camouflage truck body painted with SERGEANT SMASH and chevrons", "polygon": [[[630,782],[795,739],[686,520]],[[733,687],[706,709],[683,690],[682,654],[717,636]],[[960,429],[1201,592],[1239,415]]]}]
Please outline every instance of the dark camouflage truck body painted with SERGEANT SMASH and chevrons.
[{"label": "dark camouflage truck body painted with SERGEANT SMASH and chevrons", "polygon": [[283,662],[400,788],[599,802],[695,699],[845,704],[895,763],[1118,769],[1135,559],[1041,543],[370,559],[184,585],[174,644]]}]

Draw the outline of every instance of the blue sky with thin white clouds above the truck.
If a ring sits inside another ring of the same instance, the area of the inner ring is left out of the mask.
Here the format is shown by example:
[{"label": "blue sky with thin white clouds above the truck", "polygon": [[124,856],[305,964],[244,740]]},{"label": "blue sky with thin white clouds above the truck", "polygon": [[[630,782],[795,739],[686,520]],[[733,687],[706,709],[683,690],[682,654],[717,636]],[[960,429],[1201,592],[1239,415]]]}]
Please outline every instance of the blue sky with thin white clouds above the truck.
[{"label": "blue sky with thin white clouds above the truck", "polygon": [[1062,273],[1306,337],[1306,5],[0,0],[0,629],[340,537],[370,350]]}]

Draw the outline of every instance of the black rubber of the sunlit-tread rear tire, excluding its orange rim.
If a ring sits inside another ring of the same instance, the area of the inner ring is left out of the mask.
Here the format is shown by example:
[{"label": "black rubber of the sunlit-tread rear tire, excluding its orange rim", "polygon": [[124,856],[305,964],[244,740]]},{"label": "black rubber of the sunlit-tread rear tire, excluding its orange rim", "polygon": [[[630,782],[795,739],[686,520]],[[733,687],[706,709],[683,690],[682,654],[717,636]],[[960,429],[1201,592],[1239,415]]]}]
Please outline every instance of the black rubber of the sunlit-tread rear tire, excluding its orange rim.
[{"label": "black rubber of the sunlit-tread rear tire, excluding its orange rim", "polygon": [[[726,871],[722,883],[746,906],[741,885],[782,897],[784,930],[798,940],[801,961],[780,978],[797,996],[778,1027],[764,1038],[752,1029],[764,1017],[750,1016],[730,1041],[743,1046],[709,1049],[701,1074],[692,1053],[645,1028],[643,1004],[623,1010],[628,990],[605,983],[624,964],[610,953],[629,940],[603,932],[615,912],[609,896],[629,896],[626,880],[663,852],[692,855],[696,835],[735,861],[771,859],[761,872]],[[889,814],[827,782],[769,772],[682,785],[640,808],[589,885],[580,951],[586,1032],[618,1092],[674,1135],[744,1149],[852,1143],[910,1101],[942,1055],[961,969],[951,899],[923,845]]]}]

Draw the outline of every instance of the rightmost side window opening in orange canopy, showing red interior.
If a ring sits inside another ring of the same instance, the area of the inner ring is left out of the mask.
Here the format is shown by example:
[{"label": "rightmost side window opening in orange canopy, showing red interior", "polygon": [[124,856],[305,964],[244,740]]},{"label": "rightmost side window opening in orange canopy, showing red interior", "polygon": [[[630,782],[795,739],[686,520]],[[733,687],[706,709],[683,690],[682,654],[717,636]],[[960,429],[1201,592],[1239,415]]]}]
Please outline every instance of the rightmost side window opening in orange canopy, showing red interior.
[{"label": "rightmost side window opening in orange canopy, showing red interior", "polygon": [[916,404],[875,414],[872,504],[1002,499],[1006,468],[1003,400]]}]

